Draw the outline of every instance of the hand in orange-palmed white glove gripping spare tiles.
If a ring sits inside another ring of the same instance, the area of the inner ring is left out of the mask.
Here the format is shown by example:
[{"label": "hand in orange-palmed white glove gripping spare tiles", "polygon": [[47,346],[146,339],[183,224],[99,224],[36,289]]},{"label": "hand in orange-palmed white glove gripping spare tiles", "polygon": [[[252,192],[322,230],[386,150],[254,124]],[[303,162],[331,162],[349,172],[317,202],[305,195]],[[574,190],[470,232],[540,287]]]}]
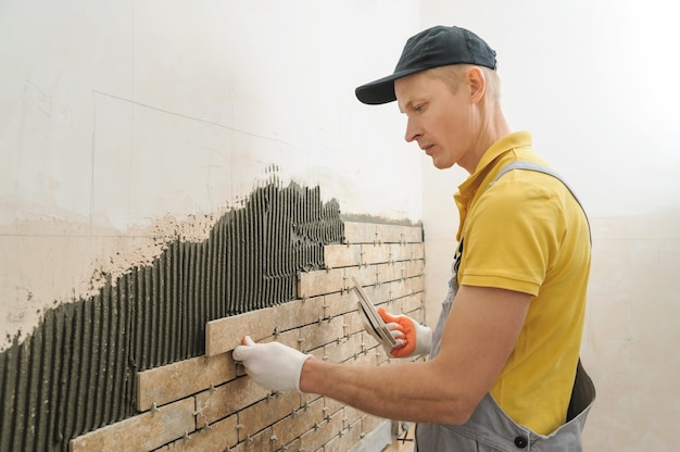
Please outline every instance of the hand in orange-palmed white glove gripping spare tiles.
[{"label": "hand in orange-palmed white glove gripping spare tiles", "polygon": [[385,307],[378,307],[378,314],[392,337],[396,339],[396,346],[390,350],[393,357],[408,357],[427,354],[432,346],[432,329],[423,326],[407,315],[391,315]]}]

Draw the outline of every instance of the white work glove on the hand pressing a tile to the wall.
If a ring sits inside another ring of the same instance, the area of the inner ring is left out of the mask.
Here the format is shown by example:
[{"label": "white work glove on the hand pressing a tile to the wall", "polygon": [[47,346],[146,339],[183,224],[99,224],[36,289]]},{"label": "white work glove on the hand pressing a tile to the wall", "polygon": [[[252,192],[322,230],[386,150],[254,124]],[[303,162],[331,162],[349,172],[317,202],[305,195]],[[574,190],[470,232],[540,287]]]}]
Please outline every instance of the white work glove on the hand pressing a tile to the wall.
[{"label": "white work glove on the hand pressing a tile to the wall", "polygon": [[304,354],[280,342],[255,343],[250,336],[234,349],[234,360],[240,361],[245,373],[260,386],[273,391],[300,391],[302,365],[311,354]]}]

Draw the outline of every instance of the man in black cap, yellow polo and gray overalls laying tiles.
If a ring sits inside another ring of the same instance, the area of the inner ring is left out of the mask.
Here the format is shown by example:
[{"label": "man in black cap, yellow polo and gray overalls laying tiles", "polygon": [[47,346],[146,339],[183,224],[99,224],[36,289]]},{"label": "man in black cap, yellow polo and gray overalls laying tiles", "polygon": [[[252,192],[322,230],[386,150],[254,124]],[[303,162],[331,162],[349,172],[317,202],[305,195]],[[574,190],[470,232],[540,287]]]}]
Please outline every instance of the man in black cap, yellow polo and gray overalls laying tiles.
[{"label": "man in black cap, yellow polo and gray overalls laying tiles", "polygon": [[477,35],[438,26],[408,39],[393,74],[356,89],[364,103],[396,101],[406,140],[436,167],[470,173],[455,196],[459,247],[437,329],[380,312],[399,338],[393,356],[429,360],[343,366],[245,338],[234,356],[257,382],[416,422],[418,451],[582,449],[594,399],[579,362],[589,225],[530,135],[511,133],[495,66]]}]

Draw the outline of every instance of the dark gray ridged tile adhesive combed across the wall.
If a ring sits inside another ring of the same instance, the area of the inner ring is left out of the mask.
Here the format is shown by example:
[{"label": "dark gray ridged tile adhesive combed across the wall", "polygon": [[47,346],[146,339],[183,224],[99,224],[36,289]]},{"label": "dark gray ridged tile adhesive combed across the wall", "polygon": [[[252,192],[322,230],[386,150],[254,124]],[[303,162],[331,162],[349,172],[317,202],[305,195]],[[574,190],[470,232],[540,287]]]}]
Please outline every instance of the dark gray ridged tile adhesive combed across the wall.
[{"label": "dark gray ridged tile adhesive combed across the wall", "polygon": [[256,189],[202,242],[179,239],[98,294],[46,312],[0,353],[0,451],[68,450],[68,440],[137,413],[137,372],[205,352],[205,323],[290,301],[299,272],[340,243],[336,201],[318,187]]}]

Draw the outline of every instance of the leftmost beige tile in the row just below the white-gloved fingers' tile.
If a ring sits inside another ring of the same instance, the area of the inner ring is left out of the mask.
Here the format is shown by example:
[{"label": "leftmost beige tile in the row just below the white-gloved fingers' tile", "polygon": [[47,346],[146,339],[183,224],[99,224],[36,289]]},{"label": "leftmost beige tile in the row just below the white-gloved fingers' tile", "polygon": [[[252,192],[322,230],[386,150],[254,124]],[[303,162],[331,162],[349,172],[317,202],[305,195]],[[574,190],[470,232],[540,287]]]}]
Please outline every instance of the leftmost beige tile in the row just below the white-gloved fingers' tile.
[{"label": "leftmost beige tile in the row just below the white-gloved fingers' tile", "polygon": [[147,411],[154,402],[161,406],[234,378],[236,367],[226,353],[140,372],[137,374],[137,410]]}]

